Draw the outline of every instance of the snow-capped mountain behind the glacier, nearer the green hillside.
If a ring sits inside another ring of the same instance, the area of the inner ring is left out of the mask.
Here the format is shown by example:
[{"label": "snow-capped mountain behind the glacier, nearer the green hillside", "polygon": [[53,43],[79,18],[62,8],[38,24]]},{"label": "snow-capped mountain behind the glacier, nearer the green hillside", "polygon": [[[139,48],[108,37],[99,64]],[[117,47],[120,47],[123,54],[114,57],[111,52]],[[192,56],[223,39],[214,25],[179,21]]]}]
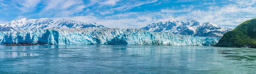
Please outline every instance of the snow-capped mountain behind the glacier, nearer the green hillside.
[{"label": "snow-capped mountain behind the glacier, nearer the green hillside", "polygon": [[151,32],[174,33],[181,35],[204,36],[221,38],[227,31],[233,28],[220,27],[216,24],[206,22],[200,23],[195,19],[174,20],[158,22],[141,28]]}]

